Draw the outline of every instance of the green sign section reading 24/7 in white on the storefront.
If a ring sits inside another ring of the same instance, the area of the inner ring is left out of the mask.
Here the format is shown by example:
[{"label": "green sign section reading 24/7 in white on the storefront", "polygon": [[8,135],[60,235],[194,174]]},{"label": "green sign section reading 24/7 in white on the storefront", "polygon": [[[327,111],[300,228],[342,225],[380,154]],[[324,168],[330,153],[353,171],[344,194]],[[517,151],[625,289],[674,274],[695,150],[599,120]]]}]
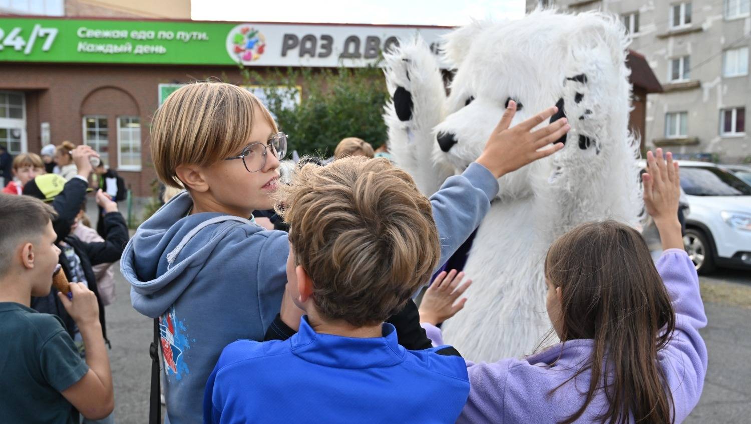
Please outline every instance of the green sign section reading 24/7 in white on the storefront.
[{"label": "green sign section reading 24/7 in white on the storefront", "polygon": [[0,18],[0,62],[234,65],[237,23]]}]

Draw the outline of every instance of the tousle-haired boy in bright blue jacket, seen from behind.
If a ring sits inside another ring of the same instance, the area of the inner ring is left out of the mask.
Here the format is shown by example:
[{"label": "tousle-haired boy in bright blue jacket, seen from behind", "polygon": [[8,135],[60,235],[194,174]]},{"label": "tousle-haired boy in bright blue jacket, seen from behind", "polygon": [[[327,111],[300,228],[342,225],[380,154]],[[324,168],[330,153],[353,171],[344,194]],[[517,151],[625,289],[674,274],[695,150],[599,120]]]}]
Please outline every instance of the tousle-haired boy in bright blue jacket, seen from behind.
[{"label": "tousle-haired boy in bright blue jacket, seen from behind", "polygon": [[469,393],[464,361],[451,347],[406,350],[384,323],[438,263],[427,197],[387,159],[366,158],[307,164],[279,191],[290,225],[282,302],[306,316],[286,341],[225,348],[204,422],[454,422]]}]

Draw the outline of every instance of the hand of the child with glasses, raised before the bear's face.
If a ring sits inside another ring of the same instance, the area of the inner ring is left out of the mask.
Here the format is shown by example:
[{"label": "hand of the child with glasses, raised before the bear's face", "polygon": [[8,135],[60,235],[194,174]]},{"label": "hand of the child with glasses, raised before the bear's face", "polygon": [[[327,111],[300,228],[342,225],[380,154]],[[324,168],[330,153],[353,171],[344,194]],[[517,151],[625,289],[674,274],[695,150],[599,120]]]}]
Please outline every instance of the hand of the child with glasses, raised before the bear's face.
[{"label": "hand of the child with glasses, raised before the bear's face", "polygon": [[532,131],[532,128],[550,119],[550,116],[557,111],[557,107],[549,107],[519,125],[508,128],[516,113],[516,102],[509,101],[501,121],[493,130],[493,134],[490,134],[484,151],[477,159],[478,164],[490,170],[496,178],[500,178],[526,164],[563,149],[562,143],[542,148],[569,132],[571,125],[566,118],[558,119],[544,128]]}]

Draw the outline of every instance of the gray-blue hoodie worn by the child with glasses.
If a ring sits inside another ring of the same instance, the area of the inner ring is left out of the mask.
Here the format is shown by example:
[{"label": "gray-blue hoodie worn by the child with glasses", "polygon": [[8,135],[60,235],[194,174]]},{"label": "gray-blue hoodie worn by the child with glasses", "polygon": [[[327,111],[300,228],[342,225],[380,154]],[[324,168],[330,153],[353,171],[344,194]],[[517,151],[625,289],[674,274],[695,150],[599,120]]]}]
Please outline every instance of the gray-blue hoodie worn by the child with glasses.
[{"label": "gray-blue hoodie worn by the child with glasses", "polygon": [[[430,197],[441,262],[490,209],[498,183],[473,163]],[[188,215],[187,193],[138,227],[122,254],[133,307],[160,320],[167,421],[201,422],[206,381],[233,341],[263,341],[279,312],[289,252],[287,233],[221,213]],[[252,384],[252,381],[248,382]]]}]

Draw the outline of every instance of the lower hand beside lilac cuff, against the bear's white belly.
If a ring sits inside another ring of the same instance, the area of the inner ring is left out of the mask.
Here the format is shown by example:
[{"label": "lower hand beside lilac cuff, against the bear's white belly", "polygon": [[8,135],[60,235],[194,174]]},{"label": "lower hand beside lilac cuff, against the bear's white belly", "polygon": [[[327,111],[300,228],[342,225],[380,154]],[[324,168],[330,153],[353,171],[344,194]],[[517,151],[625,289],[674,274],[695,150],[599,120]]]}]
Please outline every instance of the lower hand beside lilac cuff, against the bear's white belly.
[{"label": "lower hand beside lilac cuff, against the bear's white belly", "polygon": [[[456,300],[472,284],[472,280],[462,282],[464,272],[457,274],[456,269],[451,269],[448,274],[443,271],[436,276],[433,284],[430,284],[420,303],[420,322],[431,323],[434,326],[453,317],[464,308],[466,297],[459,302]],[[456,302],[456,303],[454,303]]]}]

